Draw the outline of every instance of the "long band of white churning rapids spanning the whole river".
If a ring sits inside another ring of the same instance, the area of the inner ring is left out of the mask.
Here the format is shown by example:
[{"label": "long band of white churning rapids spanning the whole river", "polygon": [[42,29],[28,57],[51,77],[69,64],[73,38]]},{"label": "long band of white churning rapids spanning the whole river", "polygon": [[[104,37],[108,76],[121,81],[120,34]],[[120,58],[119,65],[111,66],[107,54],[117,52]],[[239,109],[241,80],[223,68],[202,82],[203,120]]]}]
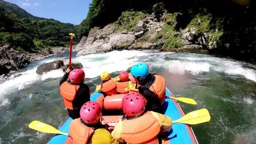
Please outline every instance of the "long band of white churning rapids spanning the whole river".
[{"label": "long band of white churning rapids spanning the whole river", "polygon": [[[28,88],[36,81],[63,76],[64,72],[61,69],[43,75],[36,74],[36,68],[40,64],[58,59],[43,60],[25,72],[16,72],[9,80],[0,84],[0,105],[8,104],[8,99],[3,97],[6,93]],[[150,67],[165,68],[174,74],[183,75],[185,72],[189,72],[192,75],[197,75],[200,72],[216,71],[224,72],[226,75],[245,77],[256,82],[256,70],[245,68],[243,62],[203,54],[123,50],[75,57],[72,61],[83,64],[87,78],[95,78],[103,71],[112,73],[127,70],[137,62],[146,62]]]}]

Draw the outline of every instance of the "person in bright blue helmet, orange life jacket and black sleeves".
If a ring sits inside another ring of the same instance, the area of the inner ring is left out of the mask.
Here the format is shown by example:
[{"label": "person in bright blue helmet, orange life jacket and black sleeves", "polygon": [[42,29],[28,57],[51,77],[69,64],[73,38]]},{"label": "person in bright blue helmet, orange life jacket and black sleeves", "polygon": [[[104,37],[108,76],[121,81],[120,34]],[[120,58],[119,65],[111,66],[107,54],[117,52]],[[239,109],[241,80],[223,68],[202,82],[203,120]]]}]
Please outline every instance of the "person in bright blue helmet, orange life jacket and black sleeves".
[{"label": "person in bright blue helmet, orange life jacket and black sleeves", "polygon": [[146,63],[133,65],[131,74],[135,78],[136,88],[146,99],[146,110],[162,113],[161,105],[165,100],[164,77],[151,74]]}]

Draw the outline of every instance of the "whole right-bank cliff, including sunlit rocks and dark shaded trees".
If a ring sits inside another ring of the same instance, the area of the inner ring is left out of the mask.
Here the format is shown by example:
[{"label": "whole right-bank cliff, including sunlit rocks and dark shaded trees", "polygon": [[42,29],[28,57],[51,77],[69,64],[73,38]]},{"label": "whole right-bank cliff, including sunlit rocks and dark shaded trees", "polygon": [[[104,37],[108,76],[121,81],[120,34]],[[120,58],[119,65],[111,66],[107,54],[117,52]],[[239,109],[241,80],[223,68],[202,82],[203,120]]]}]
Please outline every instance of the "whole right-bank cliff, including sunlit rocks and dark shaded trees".
[{"label": "whole right-bank cliff, including sunlit rocks and dark shaded trees", "polygon": [[[78,56],[153,48],[255,62],[255,19],[251,0],[93,0],[81,23],[79,35],[85,37],[78,44],[83,50]],[[127,42],[125,47],[122,42]]]}]

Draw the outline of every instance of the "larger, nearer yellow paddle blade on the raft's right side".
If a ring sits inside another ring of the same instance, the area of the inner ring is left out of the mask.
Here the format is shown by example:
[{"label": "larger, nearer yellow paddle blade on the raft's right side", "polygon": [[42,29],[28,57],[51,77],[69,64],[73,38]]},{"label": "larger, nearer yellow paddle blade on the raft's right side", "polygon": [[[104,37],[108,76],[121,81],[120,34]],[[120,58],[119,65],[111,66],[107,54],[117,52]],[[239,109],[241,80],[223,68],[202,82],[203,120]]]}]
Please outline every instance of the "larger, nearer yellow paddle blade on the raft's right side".
[{"label": "larger, nearer yellow paddle blade on the raft's right side", "polygon": [[199,109],[193,112],[189,112],[185,116],[182,116],[178,120],[172,121],[174,123],[183,123],[183,124],[201,124],[211,120],[211,116],[206,108]]}]

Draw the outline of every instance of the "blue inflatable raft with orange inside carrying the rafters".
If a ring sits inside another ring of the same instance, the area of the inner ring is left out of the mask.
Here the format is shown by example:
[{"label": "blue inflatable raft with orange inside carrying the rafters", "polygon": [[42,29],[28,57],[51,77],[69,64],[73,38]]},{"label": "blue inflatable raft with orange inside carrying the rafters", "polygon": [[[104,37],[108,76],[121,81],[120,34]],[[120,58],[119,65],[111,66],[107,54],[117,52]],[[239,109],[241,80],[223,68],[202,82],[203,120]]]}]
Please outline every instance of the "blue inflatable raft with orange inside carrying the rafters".
[{"label": "blue inflatable raft with orange inside carrying the rafters", "polygon": [[[166,96],[174,96],[168,88],[166,89]],[[98,101],[102,97],[99,92],[94,92],[91,96],[91,100]],[[172,120],[177,120],[184,116],[180,105],[173,99],[165,99],[164,102],[164,115],[169,116]],[[121,116],[103,116],[104,120],[108,122],[109,125],[115,124]],[[59,129],[61,132],[68,132],[69,124],[72,121],[69,118]],[[64,144],[68,136],[55,135],[48,142],[48,144]],[[168,138],[165,140],[165,144],[198,144],[196,136],[187,124],[173,124],[171,131],[168,133]]]}]

